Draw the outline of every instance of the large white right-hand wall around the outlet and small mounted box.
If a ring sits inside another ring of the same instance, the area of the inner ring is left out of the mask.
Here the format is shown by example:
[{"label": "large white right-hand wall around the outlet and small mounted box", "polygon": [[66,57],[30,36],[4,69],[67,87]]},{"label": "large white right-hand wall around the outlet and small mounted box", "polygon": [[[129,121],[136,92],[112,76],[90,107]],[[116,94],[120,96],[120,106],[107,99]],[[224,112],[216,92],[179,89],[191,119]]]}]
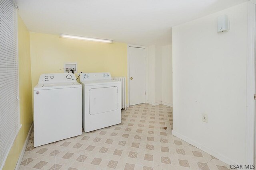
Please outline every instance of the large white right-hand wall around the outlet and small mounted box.
[{"label": "large white right-hand wall around the outlet and small mounted box", "polygon": [[[217,33],[223,14],[230,31]],[[244,164],[247,2],[172,30],[173,135],[228,164]]]}]

